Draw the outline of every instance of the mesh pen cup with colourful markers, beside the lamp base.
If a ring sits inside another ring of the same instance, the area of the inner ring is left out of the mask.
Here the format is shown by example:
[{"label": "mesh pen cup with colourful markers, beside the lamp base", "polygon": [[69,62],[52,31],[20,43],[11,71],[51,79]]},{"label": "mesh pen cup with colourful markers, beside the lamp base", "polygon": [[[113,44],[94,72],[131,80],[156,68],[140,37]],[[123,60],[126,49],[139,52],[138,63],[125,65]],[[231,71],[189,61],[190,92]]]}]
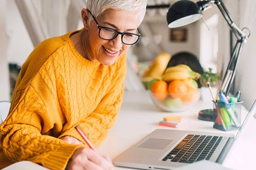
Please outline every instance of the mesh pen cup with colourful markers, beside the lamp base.
[{"label": "mesh pen cup with colourful markers, beside the lamp base", "polygon": [[239,129],[241,126],[242,102],[224,104],[213,101],[213,128],[223,131]]}]

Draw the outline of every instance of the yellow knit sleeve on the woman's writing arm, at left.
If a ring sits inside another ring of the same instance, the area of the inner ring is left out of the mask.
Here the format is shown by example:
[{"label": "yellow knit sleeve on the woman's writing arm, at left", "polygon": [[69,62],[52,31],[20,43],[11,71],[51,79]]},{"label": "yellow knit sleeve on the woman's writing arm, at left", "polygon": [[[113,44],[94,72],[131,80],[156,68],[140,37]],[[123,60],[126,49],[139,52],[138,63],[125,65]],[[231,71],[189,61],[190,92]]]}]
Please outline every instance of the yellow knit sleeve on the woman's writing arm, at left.
[{"label": "yellow knit sleeve on the woman's writing arm, at left", "polygon": [[17,104],[0,126],[0,143],[13,162],[28,160],[50,169],[65,169],[69,158],[82,146],[43,135],[61,122],[54,85],[46,80],[51,78],[41,70],[22,93],[17,92],[20,97],[13,99]]}]

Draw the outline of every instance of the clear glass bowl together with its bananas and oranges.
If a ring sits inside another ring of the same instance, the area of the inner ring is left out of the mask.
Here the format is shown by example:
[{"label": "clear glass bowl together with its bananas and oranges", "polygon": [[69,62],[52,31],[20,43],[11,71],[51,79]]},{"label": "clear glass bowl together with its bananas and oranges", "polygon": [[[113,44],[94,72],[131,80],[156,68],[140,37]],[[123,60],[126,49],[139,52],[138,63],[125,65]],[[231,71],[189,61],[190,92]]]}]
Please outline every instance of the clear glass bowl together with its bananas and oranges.
[{"label": "clear glass bowl together with its bananas and oranges", "polygon": [[183,64],[170,67],[162,75],[162,80],[154,79],[148,83],[149,95],[161,110],[188,110],[200,99],[195,81],[199,77],[199,73],[193,72]]}]

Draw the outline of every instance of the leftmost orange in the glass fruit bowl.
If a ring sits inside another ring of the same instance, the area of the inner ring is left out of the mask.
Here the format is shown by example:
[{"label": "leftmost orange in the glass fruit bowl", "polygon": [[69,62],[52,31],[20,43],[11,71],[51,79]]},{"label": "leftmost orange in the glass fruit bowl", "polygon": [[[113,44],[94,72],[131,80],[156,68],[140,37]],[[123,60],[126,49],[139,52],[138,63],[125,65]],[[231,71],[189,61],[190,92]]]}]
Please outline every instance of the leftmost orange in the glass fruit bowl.
[{"label": "leftmost orange in the glass fruit bowl", "polygon": [[167,83],[165,81],[157,81],[155,82],[152,87],[151,91],[154,93],[153,95],[158,99],[165,99],[167,97]]}]

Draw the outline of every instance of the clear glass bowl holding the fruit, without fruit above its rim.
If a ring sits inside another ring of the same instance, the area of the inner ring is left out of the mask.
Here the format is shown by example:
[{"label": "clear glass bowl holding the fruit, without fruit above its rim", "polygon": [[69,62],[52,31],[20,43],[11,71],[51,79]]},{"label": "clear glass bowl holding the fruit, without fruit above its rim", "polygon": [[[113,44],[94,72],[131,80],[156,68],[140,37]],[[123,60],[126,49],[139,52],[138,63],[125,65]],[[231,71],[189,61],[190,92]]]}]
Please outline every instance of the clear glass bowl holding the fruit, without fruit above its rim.
[{"label": "clear glass bowl holding the fruit, without fruit above its rim", "polygon": [[198,90],[182,94],[152,93],[150,90],[148,92],[155,105],[167,112],[188,110],[200,99],[200,92]]}]

